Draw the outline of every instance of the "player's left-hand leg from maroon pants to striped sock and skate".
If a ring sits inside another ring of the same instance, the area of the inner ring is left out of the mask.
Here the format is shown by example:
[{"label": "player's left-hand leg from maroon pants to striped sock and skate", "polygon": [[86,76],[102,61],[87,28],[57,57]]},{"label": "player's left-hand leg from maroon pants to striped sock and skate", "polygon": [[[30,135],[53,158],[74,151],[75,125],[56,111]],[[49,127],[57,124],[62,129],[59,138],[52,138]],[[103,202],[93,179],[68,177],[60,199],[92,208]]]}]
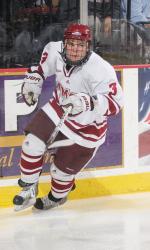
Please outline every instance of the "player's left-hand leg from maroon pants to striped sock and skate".
[{"label": "player's left-hand leg from maroon pants to striped sock and skate", "polygon": [[21,178],[18,181],[22,191],[13,199],[15,210],[21,210],[35,203],[38,193],[38,180],[42,171],[43,155],[46,141],[53,132],[55,125],[39,111],[25,131],[28,133],[23,145],[20,159]]}]

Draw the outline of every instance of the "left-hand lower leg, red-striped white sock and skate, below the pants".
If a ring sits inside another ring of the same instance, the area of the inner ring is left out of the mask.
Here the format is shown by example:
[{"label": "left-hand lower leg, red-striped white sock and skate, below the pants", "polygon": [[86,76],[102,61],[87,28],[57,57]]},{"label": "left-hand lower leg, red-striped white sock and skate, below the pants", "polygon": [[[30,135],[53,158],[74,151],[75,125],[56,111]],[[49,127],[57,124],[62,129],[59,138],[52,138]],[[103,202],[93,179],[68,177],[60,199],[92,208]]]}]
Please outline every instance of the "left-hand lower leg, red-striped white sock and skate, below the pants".
[{"label": "left-hand lower leg, red-striped white sock and skate, below the pants", "polygon": [[20,210],[35,203],[38,194],[38,180],[42,171],[43,155],[46,145],[37,136],[28,134],[22,145],[18,180],[21,192],[13,199],[15,210]]}]

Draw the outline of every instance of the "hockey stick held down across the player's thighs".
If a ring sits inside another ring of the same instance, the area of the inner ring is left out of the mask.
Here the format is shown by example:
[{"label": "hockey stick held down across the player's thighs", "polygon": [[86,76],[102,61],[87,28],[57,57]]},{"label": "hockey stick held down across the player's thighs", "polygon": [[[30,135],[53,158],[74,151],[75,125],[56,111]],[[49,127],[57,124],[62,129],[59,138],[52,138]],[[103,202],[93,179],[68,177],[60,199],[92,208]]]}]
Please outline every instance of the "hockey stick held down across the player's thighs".
[{"label": "hockey stick held down across the player's thighs", "polygon": [[[66,109],[66,111],[64,112],[63,116],[60,118],[60,121],[59,121],[58,125],[55,127],[53,133],[51,134],[50,138],[49,138],[48,141],[47,141],[47,149],[52,148],[52,147],[55,147],[55,144],[57,145],[57,147],[60,147],[59,144],[61,144],[61,146],[62,146],[62,143],[60,143],[61,141],[59,141],[59,142],[54,142],[54,140],[55,140],[55,138],[56,138],[58,132],[60,131],[60,128],[61,128],[62,125],[64,124],[64,121],[65,121],[66,118],[68,117],[68,114],[70,113],[71,109],[72,109],[72,106],[70,105],[70,106]],[[70,141],[70,143],[69,143],[67,146],[73,144],[73,142],[72,142],[71,140],[69,140],[69,139],[67,139],[67,140],[62,140],[62,142],[63,142],[63,141],[65,142],[64,144],[66,144],[66,141],[67,141],[67,144],[68,144],[68,142]],[[54,142],[54,143],[53,143],[53,142]],[[53,143],[53,145],[52,145],[52,143]]]}]

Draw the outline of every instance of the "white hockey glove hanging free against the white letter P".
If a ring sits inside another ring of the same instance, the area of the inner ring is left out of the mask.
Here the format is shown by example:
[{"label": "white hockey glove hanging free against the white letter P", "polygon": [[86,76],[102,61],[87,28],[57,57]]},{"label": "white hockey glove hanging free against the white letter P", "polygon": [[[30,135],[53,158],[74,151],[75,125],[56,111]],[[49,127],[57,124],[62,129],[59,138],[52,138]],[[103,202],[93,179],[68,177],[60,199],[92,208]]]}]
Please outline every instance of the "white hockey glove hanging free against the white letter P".
[{"label": "white hockey glove hanging free against the white letter P", "polygon": [[21,94],[28,106],[34,105],[42,91],[44,77],[38,72],[37,67],[31,67],[25,74]]}]

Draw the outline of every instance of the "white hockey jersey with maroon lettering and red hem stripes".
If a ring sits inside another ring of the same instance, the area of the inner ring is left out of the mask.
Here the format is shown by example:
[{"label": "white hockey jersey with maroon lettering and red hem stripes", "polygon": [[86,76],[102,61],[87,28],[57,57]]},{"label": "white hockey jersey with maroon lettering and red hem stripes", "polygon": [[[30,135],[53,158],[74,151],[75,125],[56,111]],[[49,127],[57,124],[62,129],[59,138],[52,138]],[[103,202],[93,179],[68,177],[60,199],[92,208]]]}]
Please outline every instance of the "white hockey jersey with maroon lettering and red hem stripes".
[{"label": "white hockey jersey with maroon lettering and red hem stripes", "polygon": [[69,116],[60,131],[81,146],[98,147],[105,141],[107,117],[117,114],[122,107],[122,89],[114,68],[94,52],[86,63],[67,71],[60,54],[62,46],[61,41],[48,43],[41,57],[39,67],[45,78],[56,75],[53,98],[42,110],[57,125],[63,114],[64,98],[80,92],[94,97],[95,108]]}]

